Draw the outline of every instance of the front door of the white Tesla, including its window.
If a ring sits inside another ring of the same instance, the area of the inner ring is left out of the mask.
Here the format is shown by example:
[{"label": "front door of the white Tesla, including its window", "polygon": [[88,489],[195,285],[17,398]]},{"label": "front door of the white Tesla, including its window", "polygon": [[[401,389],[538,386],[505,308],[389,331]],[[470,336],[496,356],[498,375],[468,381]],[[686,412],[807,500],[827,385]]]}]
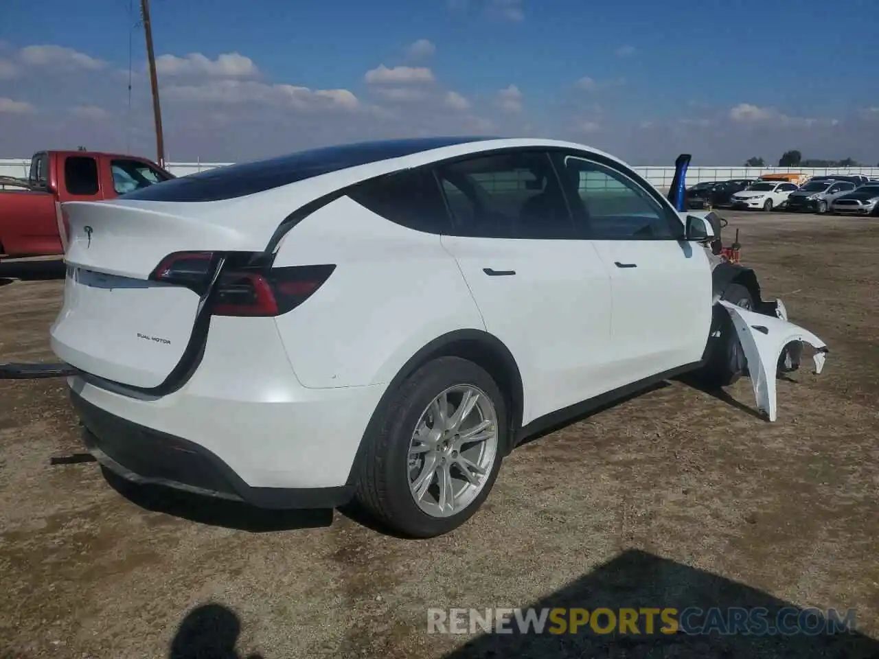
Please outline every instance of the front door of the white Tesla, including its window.
[{"label": "front door of the white Tesla, including its window", "polygon": [[707,251],[642,177],[598,155],[558,152],[581,235],[599,252],[614,299],[614,387],[701,359],[711,323]]}]

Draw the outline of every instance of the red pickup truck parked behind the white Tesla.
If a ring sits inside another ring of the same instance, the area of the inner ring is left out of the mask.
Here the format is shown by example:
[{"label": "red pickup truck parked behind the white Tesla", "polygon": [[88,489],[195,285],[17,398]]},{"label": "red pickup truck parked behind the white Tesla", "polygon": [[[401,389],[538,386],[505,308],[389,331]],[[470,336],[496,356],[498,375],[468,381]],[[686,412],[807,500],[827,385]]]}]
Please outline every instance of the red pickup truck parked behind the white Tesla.
[{"label": "red pickup truck parked behind the white Tesla", "polygon": [[[63,254],[62,202],[113,199],[169,178],[171,173],[137,156],[38,151],[24,189],[0,190],[0,254]],[[4,183],[10,185],[9,179]]]}]

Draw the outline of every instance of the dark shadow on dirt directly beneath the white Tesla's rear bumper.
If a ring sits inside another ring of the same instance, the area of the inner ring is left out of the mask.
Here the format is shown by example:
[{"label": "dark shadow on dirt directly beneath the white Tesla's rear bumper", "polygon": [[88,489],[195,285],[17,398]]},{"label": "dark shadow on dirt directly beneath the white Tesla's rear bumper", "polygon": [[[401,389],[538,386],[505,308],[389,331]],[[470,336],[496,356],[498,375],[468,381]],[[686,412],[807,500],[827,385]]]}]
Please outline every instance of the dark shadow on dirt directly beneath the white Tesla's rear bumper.
[{"label": "dark shadow on dirt directly beneath the white Tesla's rear bumper", "polygon": [[198,524],[254,533],[321,528],[332,524],[333,511],[271,511],[247,503],[202,496],[156,485],[137,485],[101,467],[106,481],[141,508]]}]

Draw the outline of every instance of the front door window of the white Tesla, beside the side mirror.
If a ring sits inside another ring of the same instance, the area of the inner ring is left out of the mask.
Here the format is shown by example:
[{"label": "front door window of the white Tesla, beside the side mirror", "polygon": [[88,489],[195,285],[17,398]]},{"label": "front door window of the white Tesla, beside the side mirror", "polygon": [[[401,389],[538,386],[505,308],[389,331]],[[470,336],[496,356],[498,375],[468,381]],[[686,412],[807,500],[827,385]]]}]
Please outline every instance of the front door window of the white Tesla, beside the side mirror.
[{"label": "front door window of the white Tesla, beside the side mirror", "polygon": [[[680,221],[671,217],[634,180],[601,163],[579,156],[556,155],[563,180],[573,188],[579,233],[593,240],[678,239]],[[573,196],[573,195],[572,195]]]}]

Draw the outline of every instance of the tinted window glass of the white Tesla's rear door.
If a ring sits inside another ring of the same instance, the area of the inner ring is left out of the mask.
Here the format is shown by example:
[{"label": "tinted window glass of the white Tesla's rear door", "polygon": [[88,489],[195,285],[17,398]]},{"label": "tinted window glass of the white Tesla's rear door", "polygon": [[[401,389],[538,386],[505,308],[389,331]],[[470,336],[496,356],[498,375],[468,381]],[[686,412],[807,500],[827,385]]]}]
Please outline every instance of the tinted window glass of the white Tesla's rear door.
[{"label": "tinted window glass of the white Tesla's rear door", "polygon": [[562,187],[546,152],[509,151],[436,168],[456,235],[573,237]]}]

